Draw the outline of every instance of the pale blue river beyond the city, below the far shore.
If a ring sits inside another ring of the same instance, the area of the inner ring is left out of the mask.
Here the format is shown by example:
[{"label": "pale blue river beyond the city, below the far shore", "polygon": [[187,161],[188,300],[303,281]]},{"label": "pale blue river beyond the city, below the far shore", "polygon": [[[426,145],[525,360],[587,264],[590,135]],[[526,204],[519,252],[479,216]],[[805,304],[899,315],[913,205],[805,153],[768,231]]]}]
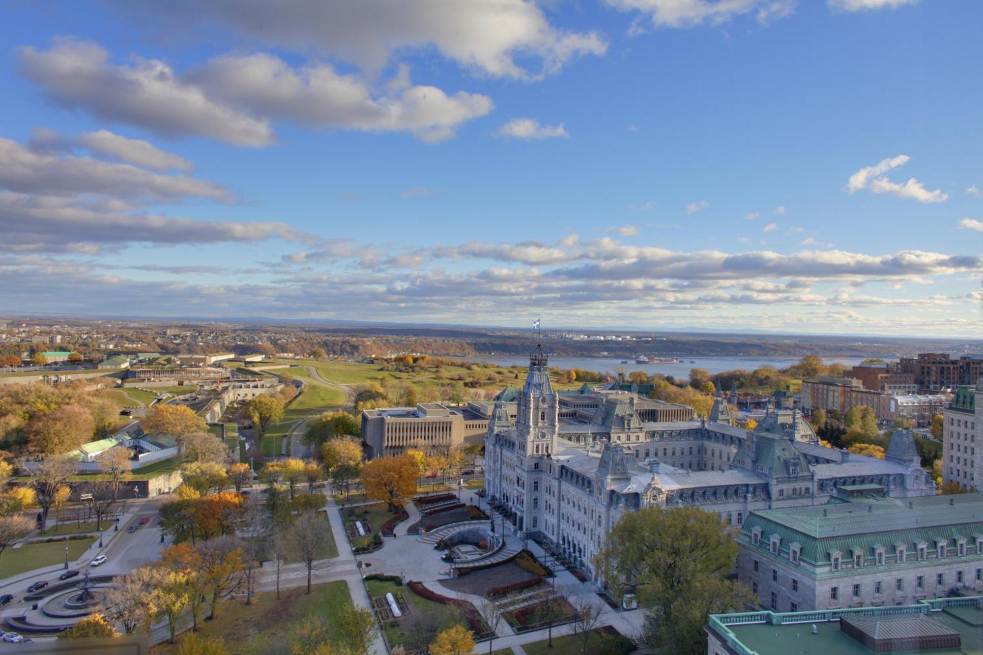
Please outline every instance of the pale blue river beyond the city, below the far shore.
[{"label": "pale blue river beyond the city, below the far shore", "polygon": [[[529,366],[528,355],[469,355],[466,359],[477,362],[494,362],[502,366]],[[753,371],[762,366],[774,366],[783,369],[799,361],[797,357],[685,357],[680,358],[677,364],[636,364],[635,360],[628,360],[627,364],[622,364],[621,359],[613,357],[550,357],[549,366],[557,366],[561,369],[584,369],[586,371],[599,371],[601,373],[613,374],[618,368],[622,368],[628,373],[632,371],[644,371],[652,375],[661,373],[664,376],[672,376],[677,380],[689,378],[690,369],[704,369],[710,373],[721,373],[734,369],[746,369]],[[827,364],[838,362],[849,368],[854,364],[859,364],[862,357],[824,357],[823,361]]]}]

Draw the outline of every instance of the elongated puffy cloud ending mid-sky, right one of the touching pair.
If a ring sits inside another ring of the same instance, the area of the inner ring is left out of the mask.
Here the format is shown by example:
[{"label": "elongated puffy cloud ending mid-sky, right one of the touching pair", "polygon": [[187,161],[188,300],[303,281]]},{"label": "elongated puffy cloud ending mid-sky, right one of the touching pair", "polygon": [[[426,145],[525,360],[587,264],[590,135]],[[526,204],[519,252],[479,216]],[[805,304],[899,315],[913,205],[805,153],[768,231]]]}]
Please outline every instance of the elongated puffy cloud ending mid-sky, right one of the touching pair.
[{"label": "elongated puffy cloud ending mid-sky, right one of the touching pair", "polygon": [[369,132],[410,132],[427,142],[452,137],[461,123],[492,111],[492,99],[460,91],[411,86],[407,76],[376,95],[355,75],[341,75],[329,64],[290,67],[270,54],[224,55],[186,76],[210,97],[272,120],[306,127],[337,127]]}]

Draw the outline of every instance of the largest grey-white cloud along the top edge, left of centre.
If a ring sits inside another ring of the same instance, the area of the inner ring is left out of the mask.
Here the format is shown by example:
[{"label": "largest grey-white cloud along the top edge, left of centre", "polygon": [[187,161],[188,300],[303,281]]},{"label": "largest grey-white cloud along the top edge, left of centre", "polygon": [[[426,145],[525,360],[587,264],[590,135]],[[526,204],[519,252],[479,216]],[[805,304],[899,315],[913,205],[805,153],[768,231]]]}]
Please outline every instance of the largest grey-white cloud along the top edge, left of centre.
[{"label": "largest grey-white cloud along the top edge, left of centre", "polygon": [[549,24],[536,2],[526,0],[117,0],[142,8],[174,30],[189,24],[225,25],[257,41],[294,51],[312,49],[372,70],[396,53],[435,48],[466,69],[494,77],[536,80],[571,59],[603,55],[605,40],[593,31]]}]

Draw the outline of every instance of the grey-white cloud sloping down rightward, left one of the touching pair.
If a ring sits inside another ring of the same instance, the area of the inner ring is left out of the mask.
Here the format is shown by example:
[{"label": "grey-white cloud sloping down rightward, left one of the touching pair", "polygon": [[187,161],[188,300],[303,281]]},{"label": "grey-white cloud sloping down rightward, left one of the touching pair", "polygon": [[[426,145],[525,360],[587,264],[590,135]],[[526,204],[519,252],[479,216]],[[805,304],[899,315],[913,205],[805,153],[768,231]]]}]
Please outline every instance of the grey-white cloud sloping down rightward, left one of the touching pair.
[{"label": "grey-white cloud sloping down rightward, left one of the touching pair", "polygon": [[18,51],[22,72],[65,107],[158,134],[197,135],[236,146],[273,143],[268,123],[207,97],[162,61],[138,59],[114,66],[90,41],[56,38],[48,50]]}]

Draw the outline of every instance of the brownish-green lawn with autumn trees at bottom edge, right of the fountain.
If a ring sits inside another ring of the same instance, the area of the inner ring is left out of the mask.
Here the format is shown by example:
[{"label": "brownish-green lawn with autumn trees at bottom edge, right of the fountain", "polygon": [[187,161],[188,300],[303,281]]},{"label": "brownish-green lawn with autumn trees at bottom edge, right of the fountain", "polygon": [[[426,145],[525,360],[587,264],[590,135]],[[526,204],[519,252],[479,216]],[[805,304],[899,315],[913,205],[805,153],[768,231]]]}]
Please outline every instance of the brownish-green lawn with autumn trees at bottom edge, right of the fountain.
[{"label": "brownish-green lawn with autumn trees at bottom edge, right of the fountain", "polygon": [[[199,637],[219,636],[225,640],[229,652],[237,655],[289,653],[290,644],[308,617],[317,618],[327,626],[330,640],[337,642],[342,636],[338,616],[351,603],[344,580],[316,584],[310,596],[304,594],[304,587],[281,591],[280,595],[282,598],[276,600],[274,592],[258,594],[253,597],[252,605],[246,605],[245,601],[226,602],[217,620],[202,622]],[[179,643],[181,638],[178,637]],[[164,643],[150,652],[176,655],[178,648],[179,644]]]}]

